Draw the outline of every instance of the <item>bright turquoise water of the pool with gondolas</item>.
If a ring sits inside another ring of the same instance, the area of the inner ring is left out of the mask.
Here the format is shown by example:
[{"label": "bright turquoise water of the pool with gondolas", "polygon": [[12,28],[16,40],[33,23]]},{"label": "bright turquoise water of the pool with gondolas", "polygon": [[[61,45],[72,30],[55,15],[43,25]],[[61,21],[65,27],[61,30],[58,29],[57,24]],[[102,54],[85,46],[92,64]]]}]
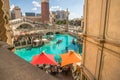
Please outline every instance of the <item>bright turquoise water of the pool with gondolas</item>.
[{"label": "bright turquoise water of the pool with gondolas", "polygon": [[[41,47],[31,48],[29,50],[27,48],[16,49],[15,54],[24,60],[31,62],[33,56],[44,51],[47,54],[53,54],[55,56],[55,60],[59,61],[59,55],[66,52],[66,47],[68,47],[68,50],[74,50],[77,53],[82,53],[82,45],[72,44],[73,39],[76,41],[76,38],[73,36],[67,34],[56,34],[54,40]],[[62,40],[59,45],[56,44],[58,40]]]}]

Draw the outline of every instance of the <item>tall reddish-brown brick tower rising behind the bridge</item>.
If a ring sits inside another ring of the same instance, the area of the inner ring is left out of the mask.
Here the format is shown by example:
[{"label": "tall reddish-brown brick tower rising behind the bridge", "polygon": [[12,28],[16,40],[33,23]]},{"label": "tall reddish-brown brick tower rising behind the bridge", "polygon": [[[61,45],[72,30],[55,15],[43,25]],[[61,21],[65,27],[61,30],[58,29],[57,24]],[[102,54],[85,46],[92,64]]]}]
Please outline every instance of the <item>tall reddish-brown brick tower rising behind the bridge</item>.
[{"label": "tall reddish-brown brick tower rising behind the bridge", "polygon": [[48,23],[49,22],[49,0],[41,0],[41,15],[42,15],[42,22]]}]

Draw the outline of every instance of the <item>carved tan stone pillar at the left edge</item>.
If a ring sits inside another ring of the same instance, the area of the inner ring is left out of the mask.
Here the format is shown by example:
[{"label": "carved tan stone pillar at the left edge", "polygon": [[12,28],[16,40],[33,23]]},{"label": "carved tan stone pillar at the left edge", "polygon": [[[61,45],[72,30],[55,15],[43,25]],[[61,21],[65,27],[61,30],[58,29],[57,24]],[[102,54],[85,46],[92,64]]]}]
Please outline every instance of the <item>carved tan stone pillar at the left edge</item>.
[{"label": "carved tan stone pillar at the left edge", "polygon": [[10,6],[9,0],[0,0],[0,38],[2,41],[7,42],[8,44],[12,43],[11,35],[12,30],[10,28],[9,19],[10,19]]}]

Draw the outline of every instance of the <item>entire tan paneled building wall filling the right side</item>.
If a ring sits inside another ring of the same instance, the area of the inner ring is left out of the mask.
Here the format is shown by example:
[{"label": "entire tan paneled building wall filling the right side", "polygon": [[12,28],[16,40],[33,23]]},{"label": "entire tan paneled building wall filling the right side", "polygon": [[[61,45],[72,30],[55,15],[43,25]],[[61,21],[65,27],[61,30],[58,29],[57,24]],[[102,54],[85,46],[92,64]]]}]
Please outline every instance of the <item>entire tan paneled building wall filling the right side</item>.
[{"label": "entire tan paneled building wall filling the right side", "polygon": [[85,0],[81,80],[120,80],[120,0]]}]

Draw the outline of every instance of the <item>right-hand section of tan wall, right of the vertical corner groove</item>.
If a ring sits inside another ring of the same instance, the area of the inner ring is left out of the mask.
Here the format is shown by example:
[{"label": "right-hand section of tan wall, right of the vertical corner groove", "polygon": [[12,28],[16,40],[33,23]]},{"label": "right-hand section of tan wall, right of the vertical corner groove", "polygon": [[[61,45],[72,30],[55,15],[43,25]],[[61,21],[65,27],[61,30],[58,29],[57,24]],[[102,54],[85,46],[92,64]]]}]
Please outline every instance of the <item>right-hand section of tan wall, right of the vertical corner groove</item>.
[{"label": "right-hand section of tan wall, right of the vertical corner groove", "polygon": [[120,80],[120,0],[109,0],[105,25],[101,80]]}]

